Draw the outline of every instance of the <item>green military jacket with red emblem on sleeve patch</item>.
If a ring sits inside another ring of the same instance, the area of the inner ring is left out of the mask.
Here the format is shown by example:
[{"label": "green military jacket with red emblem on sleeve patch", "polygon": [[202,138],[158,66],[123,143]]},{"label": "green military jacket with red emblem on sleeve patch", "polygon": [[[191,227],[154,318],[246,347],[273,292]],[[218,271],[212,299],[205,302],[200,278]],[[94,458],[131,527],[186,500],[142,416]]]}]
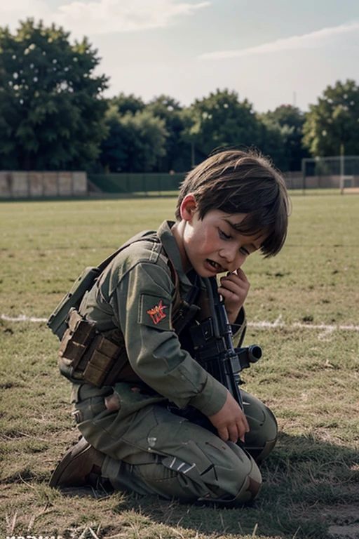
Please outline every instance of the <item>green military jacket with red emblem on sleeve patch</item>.
[{"label": "green military jacket with red emblem on sleeve patch", "polygon": [[172,327],[175,284],[168,257],[181,298],[190,298],[194,286],[183,272],[172,225],[165,221],[149,232],[160,241],[144,237],[118,253],[86,293],[80,312],[99,331],[121,329],[130,366],[152,390],[179,408],[191,405],[213,415],[226,401],[226,388],[181,347]]}]

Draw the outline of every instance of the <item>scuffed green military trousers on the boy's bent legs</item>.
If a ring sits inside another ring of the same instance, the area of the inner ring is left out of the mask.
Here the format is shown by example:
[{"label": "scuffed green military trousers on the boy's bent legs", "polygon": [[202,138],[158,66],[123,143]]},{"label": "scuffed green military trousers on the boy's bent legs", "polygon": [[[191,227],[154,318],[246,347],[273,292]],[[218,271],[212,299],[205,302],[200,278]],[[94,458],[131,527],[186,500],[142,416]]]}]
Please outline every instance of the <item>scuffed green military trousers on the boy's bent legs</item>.
[{"label": "scuffed green military trousers on the boy's bent legs", "polygon": [[255,498],[262,483],[257,463],[277,437],[276,419],[261,401],[241,391],[250,425],[241,448],[172,413],[163,397],[127,383],[113,390],[120,408],[110,412],[109,387],[81,386],[75,417],[83,437],[106,455],[102,477],[115,490],[229,505]]}]

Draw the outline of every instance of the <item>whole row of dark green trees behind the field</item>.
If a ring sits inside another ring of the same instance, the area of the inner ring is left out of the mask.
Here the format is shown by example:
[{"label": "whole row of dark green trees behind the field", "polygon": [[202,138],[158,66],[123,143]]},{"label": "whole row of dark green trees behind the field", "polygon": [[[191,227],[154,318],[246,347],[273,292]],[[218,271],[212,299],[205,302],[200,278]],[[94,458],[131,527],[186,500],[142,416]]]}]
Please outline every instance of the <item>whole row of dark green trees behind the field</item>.
[{"label": "whole row of dark green trees behind the field", "polygon": [[0,170],[187,171],[219,147],[257,147],[283,171],[304,157],[359,154],[358,86],[327,86],[309,112],[282,105],[259,114],[229,89],[183,107],[120,93],[85,37],[29,18],[0,27]]}]

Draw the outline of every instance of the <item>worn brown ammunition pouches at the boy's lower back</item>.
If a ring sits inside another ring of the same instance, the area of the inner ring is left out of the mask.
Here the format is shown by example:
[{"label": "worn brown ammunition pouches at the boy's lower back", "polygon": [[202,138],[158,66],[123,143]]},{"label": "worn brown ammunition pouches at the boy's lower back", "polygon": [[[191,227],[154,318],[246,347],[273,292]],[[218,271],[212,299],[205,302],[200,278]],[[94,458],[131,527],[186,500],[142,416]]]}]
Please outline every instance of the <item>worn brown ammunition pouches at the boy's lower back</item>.
[{"label": "worn brown ammunition pouches at the boy's lower back", "polygon": [[100,333],[95,324],[72,308],[58,352],[62,375],[97,387],[112,385],[128,365],[123,335],[119,331]]}]

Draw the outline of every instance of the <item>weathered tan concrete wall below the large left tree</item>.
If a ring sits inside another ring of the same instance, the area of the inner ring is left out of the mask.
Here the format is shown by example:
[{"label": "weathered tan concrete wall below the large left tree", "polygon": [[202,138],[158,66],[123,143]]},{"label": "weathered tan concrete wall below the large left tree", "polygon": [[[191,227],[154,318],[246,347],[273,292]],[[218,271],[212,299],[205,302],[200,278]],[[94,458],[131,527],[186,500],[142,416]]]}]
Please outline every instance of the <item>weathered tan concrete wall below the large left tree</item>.
[{"label": "weathered tan concrete wall below the large left tree", "polygon": [[0,171],[0,198],[72,197],[87,194],[86,172]]}]

